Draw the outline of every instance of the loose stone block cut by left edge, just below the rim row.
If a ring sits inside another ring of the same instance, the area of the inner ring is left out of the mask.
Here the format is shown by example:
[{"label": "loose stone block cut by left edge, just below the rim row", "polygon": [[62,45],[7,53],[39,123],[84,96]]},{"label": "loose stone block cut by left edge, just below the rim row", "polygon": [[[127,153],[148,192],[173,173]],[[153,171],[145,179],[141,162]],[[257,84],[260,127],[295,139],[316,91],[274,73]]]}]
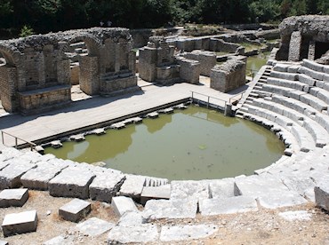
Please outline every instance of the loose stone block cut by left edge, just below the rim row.
[{"label": "loose stone block cut by left edge, just below the rim row", "polygon": [[28,201],[28,189],[5,189],[0,193],[0,208],[21,207]]}]

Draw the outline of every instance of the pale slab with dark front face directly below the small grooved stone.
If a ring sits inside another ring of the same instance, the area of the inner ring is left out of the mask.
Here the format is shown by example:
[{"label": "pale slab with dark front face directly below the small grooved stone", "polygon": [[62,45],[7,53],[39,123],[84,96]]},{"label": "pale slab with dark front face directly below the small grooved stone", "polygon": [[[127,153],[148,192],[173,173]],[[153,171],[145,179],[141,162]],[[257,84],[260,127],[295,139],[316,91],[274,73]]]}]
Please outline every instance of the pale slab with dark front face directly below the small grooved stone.
[{"label": "pale slab with dark front face directly below the small grooved stone", "polygon": [[171,185],[164,186],[144,186],[140,194],[140,204],[145,205],[151,199],[166,199],[170,198]]}]

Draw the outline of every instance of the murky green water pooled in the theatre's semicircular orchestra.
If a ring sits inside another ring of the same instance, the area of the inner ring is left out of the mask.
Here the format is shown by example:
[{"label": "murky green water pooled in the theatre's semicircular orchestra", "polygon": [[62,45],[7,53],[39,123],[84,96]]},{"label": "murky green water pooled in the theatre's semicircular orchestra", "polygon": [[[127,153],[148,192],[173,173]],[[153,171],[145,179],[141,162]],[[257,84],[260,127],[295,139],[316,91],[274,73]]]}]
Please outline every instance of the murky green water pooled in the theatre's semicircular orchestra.
[{"label": "murky green water pooled in the theatre's semicircular orchestra", "polygon": [[227,178],[253,174],[277,161],[284,144],[269,130],[204,107],[190,106],[158,119],[65,142],[45,153],[76,162],[169,179]]}]

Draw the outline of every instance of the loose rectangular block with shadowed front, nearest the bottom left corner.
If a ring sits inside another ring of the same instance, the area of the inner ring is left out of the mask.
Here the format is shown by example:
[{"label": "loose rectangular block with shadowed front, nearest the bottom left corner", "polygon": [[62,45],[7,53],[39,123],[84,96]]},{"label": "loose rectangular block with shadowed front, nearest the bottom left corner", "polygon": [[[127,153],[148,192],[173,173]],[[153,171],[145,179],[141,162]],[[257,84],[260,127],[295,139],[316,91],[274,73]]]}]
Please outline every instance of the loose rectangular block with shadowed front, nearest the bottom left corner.
[{"label": "loose rectangular block with shadowed front, nearest the bottom left corner", "polygon": [[2,228],[4,236],[36,232],[36,210],[8,214],[4,217]]}]

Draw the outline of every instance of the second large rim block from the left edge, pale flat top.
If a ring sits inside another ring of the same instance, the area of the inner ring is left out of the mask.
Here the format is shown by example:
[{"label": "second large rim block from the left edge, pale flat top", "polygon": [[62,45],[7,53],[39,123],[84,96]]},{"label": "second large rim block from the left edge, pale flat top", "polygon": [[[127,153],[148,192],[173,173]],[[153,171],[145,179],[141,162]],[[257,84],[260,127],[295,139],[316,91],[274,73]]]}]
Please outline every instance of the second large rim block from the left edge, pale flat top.
[{"label": "second large rim block from the left edge, pale flat top", "polygon": [[63,170],[50,162],[38,162],[36,168],[29,170],[20,178],[24,187],[36,190],[47,190],[49,181]]}]

